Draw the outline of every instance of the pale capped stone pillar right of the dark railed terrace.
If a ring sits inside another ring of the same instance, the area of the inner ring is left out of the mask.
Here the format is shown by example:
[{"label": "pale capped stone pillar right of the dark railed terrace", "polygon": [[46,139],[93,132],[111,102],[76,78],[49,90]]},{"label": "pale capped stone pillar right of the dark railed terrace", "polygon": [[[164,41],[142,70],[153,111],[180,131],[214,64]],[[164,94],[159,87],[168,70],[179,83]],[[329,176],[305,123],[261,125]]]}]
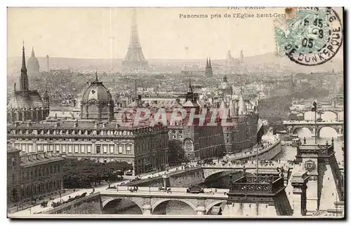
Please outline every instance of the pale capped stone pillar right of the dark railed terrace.
[{"label": "pale capped stone pillar right of the dark railed terrace", "polygon": [[296,171],[291,179],[293,186],[293,216],[306,215],[306,189],[309,176],[307,172]]}]

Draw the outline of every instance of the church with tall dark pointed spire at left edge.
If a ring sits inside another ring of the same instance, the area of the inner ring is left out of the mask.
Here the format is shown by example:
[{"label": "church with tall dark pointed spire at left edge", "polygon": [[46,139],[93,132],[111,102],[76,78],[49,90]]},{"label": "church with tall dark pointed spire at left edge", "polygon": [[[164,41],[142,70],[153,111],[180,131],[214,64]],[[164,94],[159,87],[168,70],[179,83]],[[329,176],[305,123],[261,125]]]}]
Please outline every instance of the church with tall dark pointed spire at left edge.
[{"label": "church with tall dark pointed spire at left edge", "polygon": [[49,97],[46,90],[44,101],[37,90],[29,90],[27,67],[25,64],[25,47],[22,49],[22,68],[20,90],[13,88],[13,97],[7,105],[7,121],[42,121],[50,112]]}]

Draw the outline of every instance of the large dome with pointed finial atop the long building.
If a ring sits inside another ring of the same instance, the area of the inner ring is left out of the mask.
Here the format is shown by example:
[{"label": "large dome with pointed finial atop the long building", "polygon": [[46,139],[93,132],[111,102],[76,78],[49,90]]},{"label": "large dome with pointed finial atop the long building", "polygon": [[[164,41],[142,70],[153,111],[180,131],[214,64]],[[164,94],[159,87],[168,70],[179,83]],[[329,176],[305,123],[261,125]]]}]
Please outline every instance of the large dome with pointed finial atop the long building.
[{"label": "large dome with pointed finial atop the long building", "polygon": [[114,102],[110,90],[96,79],[84,91],[81,99],[81,118],[112,120],[114,118]]}]

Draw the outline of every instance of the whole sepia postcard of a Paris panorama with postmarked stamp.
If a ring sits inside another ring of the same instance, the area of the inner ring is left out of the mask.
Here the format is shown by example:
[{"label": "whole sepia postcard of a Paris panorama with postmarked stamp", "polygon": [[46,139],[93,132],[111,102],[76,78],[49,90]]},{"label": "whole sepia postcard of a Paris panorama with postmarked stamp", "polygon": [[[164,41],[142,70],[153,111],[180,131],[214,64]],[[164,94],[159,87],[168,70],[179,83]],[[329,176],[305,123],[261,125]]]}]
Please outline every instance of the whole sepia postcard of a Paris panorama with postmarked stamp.
[{"label": "whole sepia postcard of a Paris panorama with postmarked stamp", "polygon": [[9,218],[343,218],[343,8],[8,8]]}]

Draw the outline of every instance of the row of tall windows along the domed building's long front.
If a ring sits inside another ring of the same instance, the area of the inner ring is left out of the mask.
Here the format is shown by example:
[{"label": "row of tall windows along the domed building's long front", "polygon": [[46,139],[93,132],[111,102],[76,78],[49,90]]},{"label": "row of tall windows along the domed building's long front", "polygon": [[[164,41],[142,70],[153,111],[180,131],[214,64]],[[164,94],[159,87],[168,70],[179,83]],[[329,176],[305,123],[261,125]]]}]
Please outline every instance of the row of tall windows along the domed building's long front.
[{"label": "row of tall windows along the domed building's long front", "polygon": [[[92,152],[92,144],[37,144],[37,149],[34,149],[33,144],[15,144],[16,149],[20,149],[23,152],[39,152],[39,151],[52,151],[57,154],[65,153],[76,153],[85,154]],[[124,151],[124,149],[126,151]],[[124,148],[123,145],[118,145],[115,149],[114,144],[95,144],[96,154],[131,154],[131,144],[127,144]]]}]

